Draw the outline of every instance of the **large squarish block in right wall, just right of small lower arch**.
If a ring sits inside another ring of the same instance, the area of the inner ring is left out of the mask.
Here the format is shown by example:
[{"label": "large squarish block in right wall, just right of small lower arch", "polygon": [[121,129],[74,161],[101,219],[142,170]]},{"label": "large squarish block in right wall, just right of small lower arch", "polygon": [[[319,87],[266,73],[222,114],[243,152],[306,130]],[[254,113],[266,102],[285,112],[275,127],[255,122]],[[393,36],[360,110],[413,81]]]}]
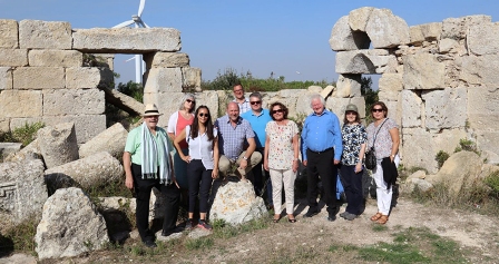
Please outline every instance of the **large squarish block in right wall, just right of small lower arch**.
[{"label": "large squarish block in right wall, just right of small lower arch", "polygon": [[404,89],[446,88],[446,65],[430,53],[403,57]]}]

